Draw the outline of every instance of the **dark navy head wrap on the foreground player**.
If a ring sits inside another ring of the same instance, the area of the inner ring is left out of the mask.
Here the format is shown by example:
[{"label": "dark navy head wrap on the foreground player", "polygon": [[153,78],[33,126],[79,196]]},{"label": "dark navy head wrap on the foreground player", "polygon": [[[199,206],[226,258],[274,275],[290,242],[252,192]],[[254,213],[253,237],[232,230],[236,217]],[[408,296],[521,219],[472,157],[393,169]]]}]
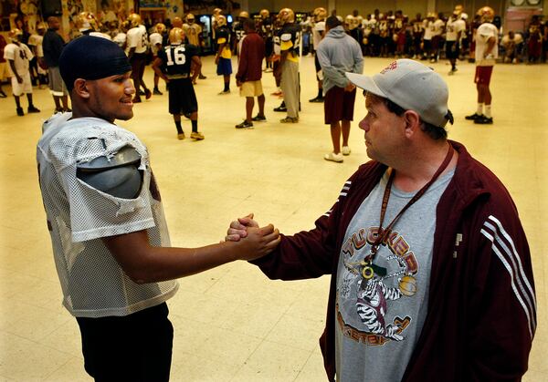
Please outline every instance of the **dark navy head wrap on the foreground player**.
[{"label": "dark navy head wrap on the foreground player", "polygon": [[80,36],[63,49],[59,71],[68,90],[78,78],[99,79],[124,74],[132,70],[121,47],[96,36]]}]

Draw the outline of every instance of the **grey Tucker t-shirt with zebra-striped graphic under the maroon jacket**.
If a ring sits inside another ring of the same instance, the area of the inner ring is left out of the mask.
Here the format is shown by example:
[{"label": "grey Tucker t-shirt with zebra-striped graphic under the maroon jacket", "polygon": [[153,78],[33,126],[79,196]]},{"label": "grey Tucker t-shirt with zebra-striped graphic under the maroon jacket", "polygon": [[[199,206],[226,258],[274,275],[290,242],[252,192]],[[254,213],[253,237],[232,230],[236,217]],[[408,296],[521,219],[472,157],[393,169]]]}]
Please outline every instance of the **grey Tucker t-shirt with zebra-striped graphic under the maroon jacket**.
[{"label": "grey Tucker t-shirt with zebra-striped graphic under the maroon jacket", "polygon": [[[335,361],[343,382],[401,380],[427,315],[436,207],[454,170],[395,222],[374,258],[374,277],[364,279],[360,263],[378,233],[388,174],[353,216],[339,256]],[[415,193],[392,187],[384,227]]]}]

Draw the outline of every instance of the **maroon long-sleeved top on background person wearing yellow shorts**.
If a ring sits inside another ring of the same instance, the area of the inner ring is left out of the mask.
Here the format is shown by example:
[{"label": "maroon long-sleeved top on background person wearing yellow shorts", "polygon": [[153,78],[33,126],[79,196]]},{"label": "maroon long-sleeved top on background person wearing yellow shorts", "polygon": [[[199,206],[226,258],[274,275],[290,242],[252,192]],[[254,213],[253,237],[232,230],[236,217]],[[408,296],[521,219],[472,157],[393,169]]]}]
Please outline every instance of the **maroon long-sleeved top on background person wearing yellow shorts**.
[{"label": "maroon long-sleeved top on background person wearing yellow shorts", "polygon": [[240,82],[258,81],[262,77],[265,41],[256,32],[248,33],[242,41],[236,79]]}]

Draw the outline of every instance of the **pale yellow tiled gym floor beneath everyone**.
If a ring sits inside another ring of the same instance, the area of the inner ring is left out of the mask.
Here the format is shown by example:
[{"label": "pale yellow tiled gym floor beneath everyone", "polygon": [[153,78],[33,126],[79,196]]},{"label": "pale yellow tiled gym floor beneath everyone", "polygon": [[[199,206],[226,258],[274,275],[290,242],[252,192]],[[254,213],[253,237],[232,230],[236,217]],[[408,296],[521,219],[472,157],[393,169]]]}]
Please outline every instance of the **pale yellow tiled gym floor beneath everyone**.
[{"label": "pale yellow tiled gym floor beneath everyone", "polygon": [[[285,116],[272,111],[279,99],[267,96],[268,121],[255,129],[234,129],[244,117],[244,100],[236,88],[217,96],[222,80],[211,57],[204,61],[208,78],[196,92],[205,140],[175,138],[167,94],[136,105],[135,117],[122,123],[149,147],[173,244],[216,243],[228,222],[248,212],[281,232],[310,229],[331,207],[343,181],[367,160],[362,131],[353,124],[353,153],[344,163],[322,160],[331,140],[322,105],[308,102],[316,95],[311,57],[301,65],[299,124],[280,124]],[[387,63],[366,58],[364,71],[374,74]],[[548,380],[548,261],[543,256],[548,252],[548,66],[495,67],[492,126],[464,120],[476,107],[474,67],[461,63],[453,77],[447,76],[445,62],[433,67],[450,88],[457,120],[450,138],[465,143],[495,171],[520,210],[532,250],[539,322],[525,380]],[[150,70],[146,79],[152,85]],[[274,90],[270,74],[263,83],[269,95]],[[0,381],[88,380],[78,327],[60,305],[37,187],[35,147],[53,101],[47,90],[36,90],[35,98],[42,113],[24,118],[16,117],[13,98],[0,99]],[[26,108],[26,99],[23,104]],[[363,116],[359,96],[356,120]],[[190,131],[188,120],[184,129]],[[243,262],[181,280],[181,291],[169,303],[175,327],[172,379],[325,380],[318,337],[328,284],[326,277],[271,282]]]}]

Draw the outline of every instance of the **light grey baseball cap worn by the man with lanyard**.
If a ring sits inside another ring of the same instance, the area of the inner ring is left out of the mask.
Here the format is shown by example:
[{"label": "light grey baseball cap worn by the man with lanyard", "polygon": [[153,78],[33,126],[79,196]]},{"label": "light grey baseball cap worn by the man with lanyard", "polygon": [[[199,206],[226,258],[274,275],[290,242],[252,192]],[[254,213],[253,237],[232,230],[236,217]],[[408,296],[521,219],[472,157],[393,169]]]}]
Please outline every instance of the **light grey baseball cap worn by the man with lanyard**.
[{"label": "light grey baseball cap worn by the man with lanyard", "polygon": [[416,111],[434,126],[443,128],[448,121],[453,123],[448,109],[448,85],[434,69],[420,62],[398,59],[373,77],[357,73],[346,73],[346,77],[358,88]]}]

